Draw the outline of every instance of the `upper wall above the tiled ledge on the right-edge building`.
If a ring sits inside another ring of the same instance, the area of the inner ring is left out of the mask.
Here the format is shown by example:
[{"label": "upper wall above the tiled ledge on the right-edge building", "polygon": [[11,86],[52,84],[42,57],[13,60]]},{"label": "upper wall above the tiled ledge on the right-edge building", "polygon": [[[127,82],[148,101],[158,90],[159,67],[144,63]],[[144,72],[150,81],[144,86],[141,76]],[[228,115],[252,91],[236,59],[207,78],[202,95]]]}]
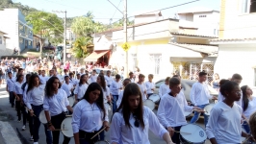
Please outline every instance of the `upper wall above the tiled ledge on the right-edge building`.
[{"label": "upper wall above the tiled ledge on the right-edge building", "polygon": [[255,37],[256,12],[243,13],[242,0],[222,0],[220,37]]}]

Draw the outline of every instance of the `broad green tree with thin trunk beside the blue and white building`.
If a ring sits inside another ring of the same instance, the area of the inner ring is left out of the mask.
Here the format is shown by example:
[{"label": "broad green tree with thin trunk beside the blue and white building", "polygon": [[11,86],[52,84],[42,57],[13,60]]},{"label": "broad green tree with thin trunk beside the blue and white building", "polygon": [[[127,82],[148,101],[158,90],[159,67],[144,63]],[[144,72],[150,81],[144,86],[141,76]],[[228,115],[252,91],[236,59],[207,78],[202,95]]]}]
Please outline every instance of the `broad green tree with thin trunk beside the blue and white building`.
[{"label": "broad green tree with thin trunk beside the blue and white building", "polygon": [[[29,24],[33,25],[33,33],[43,38],[63,39],[64,25],[61,18],[55,13],[50,12],[32,12],[26,16],[26,20]],[[40,53],[42,51],[42,39],[40,39]]]}]

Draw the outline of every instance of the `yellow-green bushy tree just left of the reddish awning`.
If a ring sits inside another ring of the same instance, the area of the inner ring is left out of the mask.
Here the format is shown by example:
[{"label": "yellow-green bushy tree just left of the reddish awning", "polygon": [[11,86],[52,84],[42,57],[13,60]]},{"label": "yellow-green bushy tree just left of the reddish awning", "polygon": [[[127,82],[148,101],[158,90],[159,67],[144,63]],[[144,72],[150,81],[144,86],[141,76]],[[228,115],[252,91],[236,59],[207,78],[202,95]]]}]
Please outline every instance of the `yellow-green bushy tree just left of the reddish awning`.
[{"label": "yellow-green bushy tree just left of the reddish awning", "polygon": [[92,38],[81,36],[74,42],[72,52],[75,58],[86,58],[93,51]]}]

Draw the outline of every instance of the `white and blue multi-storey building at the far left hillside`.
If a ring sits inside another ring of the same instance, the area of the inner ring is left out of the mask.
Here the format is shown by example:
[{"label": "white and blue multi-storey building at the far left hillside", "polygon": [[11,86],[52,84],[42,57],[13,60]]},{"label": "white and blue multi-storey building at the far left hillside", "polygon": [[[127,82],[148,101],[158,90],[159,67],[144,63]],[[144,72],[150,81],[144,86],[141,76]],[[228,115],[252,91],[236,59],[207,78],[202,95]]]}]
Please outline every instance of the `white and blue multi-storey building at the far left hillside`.
[{"label": "white and blue multi-storey building at the far left hillside", "polygon": [[28,25],[25,16],[18,9],[0,11],[0,31],[7,33],[6,47],[20,52],[33,47],[32,26]]}]

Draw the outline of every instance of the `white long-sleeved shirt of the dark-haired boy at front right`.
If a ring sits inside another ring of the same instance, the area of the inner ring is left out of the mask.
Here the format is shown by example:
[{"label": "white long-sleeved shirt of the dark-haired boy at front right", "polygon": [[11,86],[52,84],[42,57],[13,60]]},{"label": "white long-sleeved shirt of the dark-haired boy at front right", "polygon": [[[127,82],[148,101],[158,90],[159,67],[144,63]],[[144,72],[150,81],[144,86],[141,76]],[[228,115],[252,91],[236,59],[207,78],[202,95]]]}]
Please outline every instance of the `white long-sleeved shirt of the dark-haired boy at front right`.
[{"label": "white long-sleeved shirt of the dark-haired boy at front right", "polygon": [[224,102],[219,102],[211,110],[211,116],[206,126],[209,139],[215,137],[217,143],[241,143],[242,108],[234,103],[230,108]]}]

